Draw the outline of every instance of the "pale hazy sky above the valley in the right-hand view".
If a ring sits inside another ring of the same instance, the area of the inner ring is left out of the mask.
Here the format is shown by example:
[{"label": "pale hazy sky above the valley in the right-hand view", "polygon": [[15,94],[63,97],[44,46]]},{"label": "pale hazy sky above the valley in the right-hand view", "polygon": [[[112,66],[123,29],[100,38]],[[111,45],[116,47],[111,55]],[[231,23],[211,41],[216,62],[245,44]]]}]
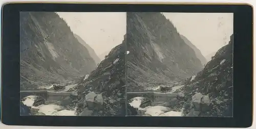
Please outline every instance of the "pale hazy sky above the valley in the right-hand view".
[{"label": "pale hazy sky above the valley in the right-hand view", "polygon": [[233,13],[163,13],[203,56],[226,45],[233,33]]}]

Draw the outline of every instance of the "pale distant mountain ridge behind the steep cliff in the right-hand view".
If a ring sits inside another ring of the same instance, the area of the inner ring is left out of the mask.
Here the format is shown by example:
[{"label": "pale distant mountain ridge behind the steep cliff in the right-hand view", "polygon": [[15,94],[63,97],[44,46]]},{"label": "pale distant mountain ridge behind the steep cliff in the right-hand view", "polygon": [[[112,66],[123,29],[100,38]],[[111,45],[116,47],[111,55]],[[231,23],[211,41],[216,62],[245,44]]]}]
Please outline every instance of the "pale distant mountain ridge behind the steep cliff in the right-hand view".
[{"label": "pale distant mountain ridge behind the steep cliff in the right-hand view", "polygon": [[202,55],[200,49],[198,49],[194,44],[192,44],[185,36],[180,35],[180,37],[185,41],[187,45],[189,45],[191,48],[194,49],[197,58],[201,61],[202,65],[205,65],[207,63],[207,60],[205,57]]}]

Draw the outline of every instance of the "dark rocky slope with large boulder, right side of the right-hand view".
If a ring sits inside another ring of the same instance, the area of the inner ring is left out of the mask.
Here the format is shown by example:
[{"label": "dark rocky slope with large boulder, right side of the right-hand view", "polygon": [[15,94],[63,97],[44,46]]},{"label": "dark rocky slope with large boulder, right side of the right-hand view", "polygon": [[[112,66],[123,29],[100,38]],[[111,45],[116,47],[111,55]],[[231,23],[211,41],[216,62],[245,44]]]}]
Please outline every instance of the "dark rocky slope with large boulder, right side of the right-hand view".
[{"label": "dark rocky slope with large boulder, right side of the right-hand view", "polygon": [[232,117],[233,35],[195,78],[190,78],[185,93],[186,116]]}]

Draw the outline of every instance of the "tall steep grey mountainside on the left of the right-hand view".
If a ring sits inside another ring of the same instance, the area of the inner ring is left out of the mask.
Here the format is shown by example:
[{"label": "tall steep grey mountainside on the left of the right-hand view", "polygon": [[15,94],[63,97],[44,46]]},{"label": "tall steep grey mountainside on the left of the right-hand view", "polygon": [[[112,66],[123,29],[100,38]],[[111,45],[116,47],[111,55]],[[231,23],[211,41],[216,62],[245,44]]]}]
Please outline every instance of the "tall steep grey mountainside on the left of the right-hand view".
[{"label": "tall steep grey mountainside on the left of the right-hand view", "polygon": [[195,51],[161,13],[127,14],[127,90],[181,81],[202,70]]}]

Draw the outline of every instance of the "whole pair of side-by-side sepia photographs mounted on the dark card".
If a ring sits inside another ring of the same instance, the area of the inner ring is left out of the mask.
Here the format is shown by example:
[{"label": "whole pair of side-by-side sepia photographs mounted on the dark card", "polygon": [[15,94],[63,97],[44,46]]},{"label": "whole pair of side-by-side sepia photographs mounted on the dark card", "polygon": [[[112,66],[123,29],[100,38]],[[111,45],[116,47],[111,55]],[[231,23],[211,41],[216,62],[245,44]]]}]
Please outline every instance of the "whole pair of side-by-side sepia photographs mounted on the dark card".
[{"label": "whole pair of side-by-side sepia photographs mounted on the dark card", "polygon": [[233,116],[233,14],[20,12],[20,115]]}]

